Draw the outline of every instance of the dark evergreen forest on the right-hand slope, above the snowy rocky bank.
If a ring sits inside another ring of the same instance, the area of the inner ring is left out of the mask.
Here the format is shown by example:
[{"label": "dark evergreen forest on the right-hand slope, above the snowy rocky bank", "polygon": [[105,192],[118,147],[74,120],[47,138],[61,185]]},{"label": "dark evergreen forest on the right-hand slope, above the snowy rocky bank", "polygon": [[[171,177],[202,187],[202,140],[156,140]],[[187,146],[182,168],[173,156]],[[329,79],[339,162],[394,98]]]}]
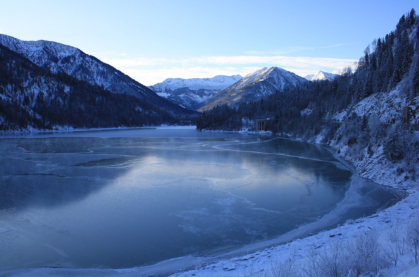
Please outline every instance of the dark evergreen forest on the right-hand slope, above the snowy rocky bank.
[{"label": "dark evergreen forest on the right-hand slope, above the snowy rocky bank", "polygon": [[[316,136],[325,128],[335,131],[336,125],[330,124],[333,115],[374,92],[393,90],[403,78],[410,82],[406,97],[412,101],[419,95],[418,26],[412,9],[409,15],[401,17],[395,31],[374,40],[372,47],[365,49],[354,69],[346,67],[333,81],[302,82],[292,90],[241,103],[237,108],[215,107],[199,117],[197,130],[238,130],[246,120],[270,118],[266,129],[274,133]],[[394,114],[388,123],[399,119],[400,115]]]}]

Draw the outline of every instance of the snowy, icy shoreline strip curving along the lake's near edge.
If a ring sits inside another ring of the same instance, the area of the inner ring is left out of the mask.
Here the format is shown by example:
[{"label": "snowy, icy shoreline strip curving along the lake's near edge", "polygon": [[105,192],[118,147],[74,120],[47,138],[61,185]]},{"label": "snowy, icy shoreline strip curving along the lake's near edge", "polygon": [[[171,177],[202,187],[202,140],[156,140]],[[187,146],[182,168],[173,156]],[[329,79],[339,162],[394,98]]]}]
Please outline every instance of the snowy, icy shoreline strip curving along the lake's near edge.
[{"label": "snowy, icy shoreline strip curving along the lake's near edge", "polygon": [[[105,130],[108,130],[108,128]],[[82,129],[77,131],[93,130]],[[331,151],[332,149],[333,147],[328,150]],[[336,154],[334,154],[334,156],[336,156]],[[248,276],[249,270],[252,272],[254,271],[252,274],[259,276],[257,275],[258,272],[266,272],[272,267],[272,262],[286,259],[290,256],[291,252],[293,252],[292,255],[297,257],[299,262],[303,262],[305,257],[308,256],[309,249],[326,246],[328,241],[334,236],[349,238],[360,231],[367,233],[373,229],[383,229],[391,225],[392,221],[406,221],[417,213],[416,209],[419,208],[419,193],[412,188],[406,190],[406,192],[409,193],[408,196],[383,211],[365,218],[360,218],[353,224],[339,226],[328,231],[321,231],[330,226],[336,226],[336,222],[339,221],[341,216],[347,209],[354,207],[354,205],[359,205],[360,203],[362,203],[362,205],[368,205],[367,200],[362,199],[358,191],[362,189],[363,185],[367,185],[366,182],[372,181],[356,175],[354,166],[348,160],[344,160],[339,156],[336,156],[336,158],[354,172],[351,186],[346,192],[344,200],[338,203],[334,210],[324,215],[323,218],[320,218],[318,221],[299,226],[275,239],[244,246],[219,256],[179,257],[147,267],[131,269],[65,269],[41,267],[34,269],[4,270],[0,271],[0,276],[98,276],[98,274],[100,274],[100,276],[113,276],[116,274],[118,276],[151,276],[153,274],[164,276],[169,274],[173,274],[171,276]],[[402,224],[405,223],[406,222]],[[320,232],[315,233],[318,231]],[[308,233],[315,234],[307,236]],[[406,264],[409,264],[409,261],[402,261],[401,264],[406,267]],[[198,267],[198,269],[194,269],[194,267]],[[393,268],[393,275],[401,269],[405,268],[402,266]]]}]

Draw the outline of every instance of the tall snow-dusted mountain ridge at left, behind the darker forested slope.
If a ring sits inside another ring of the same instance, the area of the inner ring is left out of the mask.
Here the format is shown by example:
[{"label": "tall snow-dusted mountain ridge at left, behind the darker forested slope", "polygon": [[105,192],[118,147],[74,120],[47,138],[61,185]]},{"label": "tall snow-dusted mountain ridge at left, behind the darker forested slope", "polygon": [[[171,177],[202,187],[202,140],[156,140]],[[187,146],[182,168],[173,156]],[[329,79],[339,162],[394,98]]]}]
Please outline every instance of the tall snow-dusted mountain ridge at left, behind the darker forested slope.
[{"label": "tall snow-dusted mountain ridge at left, behind the darker forested slope", "polygon": [[44,40],[22,41],[4,34],[0,34],[0,44],[53,73],[65,72],[92,85],[103,86],[111,92],[146,98],[158,107],[172,110],[174,113],[187,112],[109,64],[73,46]]}]

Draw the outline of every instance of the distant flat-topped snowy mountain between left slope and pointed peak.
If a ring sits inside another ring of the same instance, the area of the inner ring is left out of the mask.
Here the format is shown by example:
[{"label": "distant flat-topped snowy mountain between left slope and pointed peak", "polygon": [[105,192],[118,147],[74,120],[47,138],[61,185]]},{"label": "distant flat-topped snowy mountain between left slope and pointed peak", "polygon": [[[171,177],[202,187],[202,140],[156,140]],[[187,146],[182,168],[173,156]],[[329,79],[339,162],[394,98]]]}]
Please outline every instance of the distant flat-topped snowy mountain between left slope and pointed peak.
[{"label": "distant flat-topped snowy mountain between left slope and pointed peak", "polygon": [[173,103],[194,110],[197,105],[209,99],[212,95],[233,85],[241,78],[240,75],[217,75],[212,78],[202,79],[168,78],[148,88]]}]

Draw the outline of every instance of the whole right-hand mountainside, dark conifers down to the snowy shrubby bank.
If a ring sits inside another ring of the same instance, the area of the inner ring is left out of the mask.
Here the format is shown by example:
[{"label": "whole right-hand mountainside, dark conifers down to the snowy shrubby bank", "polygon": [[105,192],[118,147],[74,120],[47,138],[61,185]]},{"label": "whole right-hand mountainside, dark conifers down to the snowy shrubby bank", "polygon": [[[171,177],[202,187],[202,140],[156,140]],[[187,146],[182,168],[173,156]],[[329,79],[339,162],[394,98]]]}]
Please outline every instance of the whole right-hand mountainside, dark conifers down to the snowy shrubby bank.
[{"label": "whole right-hand mountainside, dark conifers down to the snowy shrubby bank", "polygon": [[[333,81],[302,82],[290,95],[213,108],[199,118],[197,129],[252,129],[255,118],[270,118],[266,130],[334,146],[362,177],[380,184],[416,180],[418,137],[400,119],[409,106],[410,123],[419,123],[418,49],[419,19],[412,9],[395,31],[375,39],[353,68]],[[381,123],[396,124],[383,128]]]}]

